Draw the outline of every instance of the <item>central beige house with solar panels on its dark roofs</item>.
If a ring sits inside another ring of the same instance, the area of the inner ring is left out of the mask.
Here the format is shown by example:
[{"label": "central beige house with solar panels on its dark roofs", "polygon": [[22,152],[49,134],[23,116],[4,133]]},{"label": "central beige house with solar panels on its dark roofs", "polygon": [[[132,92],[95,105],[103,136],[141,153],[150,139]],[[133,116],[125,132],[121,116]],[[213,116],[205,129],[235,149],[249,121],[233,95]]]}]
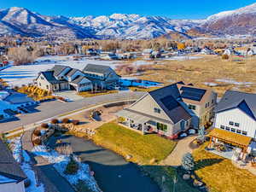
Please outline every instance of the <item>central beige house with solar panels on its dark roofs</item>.
[{"label": "central beige house with solar panels on its dark roofs", "polygon": [[[204,108],[212,108],[213,103],[216,103],[215,97],[211,96],[210,90],[204,90],[202,93],[198,88],[179,82],[148,92],[117,115],[124,119],[123,123],[128,127],[143,132],[155,131],[166,137],[176,138],[182,131],[198,128],[198,119],[202,117],[196,115],[205,115],[211,111],[202,109],[202,105]],[[213,99],[211,107],[208,104],[210,98]],[[210,115],[207,118],[210,119]]]}]

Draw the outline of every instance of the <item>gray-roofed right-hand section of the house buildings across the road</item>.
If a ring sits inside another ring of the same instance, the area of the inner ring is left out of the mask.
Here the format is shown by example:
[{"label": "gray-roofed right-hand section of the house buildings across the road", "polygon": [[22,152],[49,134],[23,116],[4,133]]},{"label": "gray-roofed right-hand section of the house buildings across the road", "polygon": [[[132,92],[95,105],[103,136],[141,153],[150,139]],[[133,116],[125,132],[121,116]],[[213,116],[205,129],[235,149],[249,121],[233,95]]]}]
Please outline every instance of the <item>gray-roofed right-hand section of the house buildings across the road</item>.
[{"label": "gray-roofed right-hand section of the house buildings across the road", "polygon": [[120,76],[108,66],[88,64],[83,70],[84,76],[90,79],[94,87],[113,89],[119,84]]}]

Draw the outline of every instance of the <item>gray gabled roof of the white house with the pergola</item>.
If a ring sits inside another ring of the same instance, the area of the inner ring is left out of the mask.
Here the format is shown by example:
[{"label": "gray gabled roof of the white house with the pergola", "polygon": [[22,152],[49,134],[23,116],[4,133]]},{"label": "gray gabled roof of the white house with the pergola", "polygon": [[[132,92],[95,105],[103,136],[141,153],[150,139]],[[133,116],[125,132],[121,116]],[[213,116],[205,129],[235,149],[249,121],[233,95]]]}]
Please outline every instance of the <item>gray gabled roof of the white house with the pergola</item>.
[{"label": "gray gabled roof of the white house with the pergola", "polygon": [[227,90],[218,102],[215,111],[219,113],[231,108],[240,108],[249,116],[253,115],[253,119],[256,119],[256,94]]}]

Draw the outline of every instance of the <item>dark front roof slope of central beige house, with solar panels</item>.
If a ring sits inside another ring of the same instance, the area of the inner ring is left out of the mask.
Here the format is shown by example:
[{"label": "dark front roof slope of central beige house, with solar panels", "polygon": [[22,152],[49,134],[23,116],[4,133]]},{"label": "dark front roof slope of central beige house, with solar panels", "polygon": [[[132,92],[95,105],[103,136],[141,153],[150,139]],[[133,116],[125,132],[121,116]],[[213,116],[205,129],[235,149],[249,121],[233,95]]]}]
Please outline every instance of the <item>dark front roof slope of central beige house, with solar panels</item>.
[{"label": "dark front roof slope of central beige house, with solar panels", "polygon": [[178,102],[181,96],[177,89],[177,84],[171,84],[158,90],[150,91],[148,94],[152,96],[160,108],[172,119],[174,124],[182,119],[187,120],[191,118],[189,112]]}]

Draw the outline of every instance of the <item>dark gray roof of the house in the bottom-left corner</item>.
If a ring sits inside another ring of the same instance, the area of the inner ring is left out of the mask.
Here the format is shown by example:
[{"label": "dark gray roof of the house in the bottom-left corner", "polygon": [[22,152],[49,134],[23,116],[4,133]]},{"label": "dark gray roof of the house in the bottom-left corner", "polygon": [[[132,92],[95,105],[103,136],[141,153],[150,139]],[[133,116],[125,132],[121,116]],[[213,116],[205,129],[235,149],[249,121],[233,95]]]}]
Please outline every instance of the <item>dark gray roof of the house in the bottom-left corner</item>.
[{"label": "dark gray roof of the house in the bottom-left corner", "polygon": [[17,182],[26,179],[25,173],[2,140],[0,140],[0,153],[0,175],[15,179]]}]

